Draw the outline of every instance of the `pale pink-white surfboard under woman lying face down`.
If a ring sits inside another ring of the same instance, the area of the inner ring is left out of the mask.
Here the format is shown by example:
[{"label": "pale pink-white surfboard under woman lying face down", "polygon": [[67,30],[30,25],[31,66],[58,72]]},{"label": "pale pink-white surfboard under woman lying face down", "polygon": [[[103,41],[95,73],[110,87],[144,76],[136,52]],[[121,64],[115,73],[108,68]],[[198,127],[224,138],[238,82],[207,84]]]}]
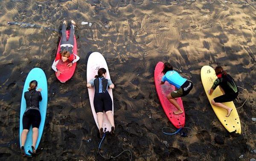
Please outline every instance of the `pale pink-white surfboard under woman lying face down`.
[{"label": "pale pink-white surfboard under woman lying face down", "polygon": [[[105,60],[105,58],[102,56],[99,52],[93,52],[90,54],[88,61],[87,61],[87,82],[89,82],[91,79],[94,78],[95,75],[98,75],[98,70],[100,68],[105,68],[107,70],[107,79],[110,79],[110,73],[108,71],[108,65]],[[90,106],[93,112],[93,118],[94,121],[99,128],[99,124],[97,121],[97,114],[95,112],[94,106],[93,106],[93,98],[94,98],[94,88],[88,88],[89,98],[90,98]],[[108,93],[112,99],[112,113],[114,115],[114,105],[113,105],[113,93],[112,89],[108,89]],[[111,124],[108,121],[107,115],[105,111],[103,112],[103,129],[106,129],[106,132],[111,132]]]}]

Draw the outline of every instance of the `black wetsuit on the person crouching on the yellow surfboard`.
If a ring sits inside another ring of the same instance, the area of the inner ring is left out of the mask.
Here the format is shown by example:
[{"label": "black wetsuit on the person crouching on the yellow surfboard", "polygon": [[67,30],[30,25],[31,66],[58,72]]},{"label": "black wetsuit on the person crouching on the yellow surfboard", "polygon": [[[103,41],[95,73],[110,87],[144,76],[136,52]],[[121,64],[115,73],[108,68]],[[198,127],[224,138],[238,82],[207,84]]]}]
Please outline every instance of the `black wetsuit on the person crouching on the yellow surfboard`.
[{"label": "black wetsuit on the person crouching on the yellow surfboard", "polygon": [[212,85],[212,89],[216,89],[217,86],[221,86],[225,92],[224,95],[213,99],[217,103],[230,102],[238,96],[239,91],[235,80],[229,74],[222,75],[221,78],[217,78]]}]

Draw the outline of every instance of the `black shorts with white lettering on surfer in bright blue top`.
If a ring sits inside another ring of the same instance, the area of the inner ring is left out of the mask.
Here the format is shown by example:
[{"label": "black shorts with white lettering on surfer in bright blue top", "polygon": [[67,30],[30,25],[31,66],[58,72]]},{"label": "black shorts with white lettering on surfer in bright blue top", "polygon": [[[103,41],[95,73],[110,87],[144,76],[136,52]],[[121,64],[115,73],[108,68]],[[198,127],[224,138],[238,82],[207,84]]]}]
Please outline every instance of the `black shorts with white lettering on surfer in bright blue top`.
[{"label": "black shorts with white lettering on surfer in bright blue top", "polygon": [[189,92],[191,91],[192,88],[193,88],[192,81],[186,80],[186,82],[183,83],[179,89],[171,92],[171,96],[172,96],[172,98],[183,97],[183,96],[189,94]]}]

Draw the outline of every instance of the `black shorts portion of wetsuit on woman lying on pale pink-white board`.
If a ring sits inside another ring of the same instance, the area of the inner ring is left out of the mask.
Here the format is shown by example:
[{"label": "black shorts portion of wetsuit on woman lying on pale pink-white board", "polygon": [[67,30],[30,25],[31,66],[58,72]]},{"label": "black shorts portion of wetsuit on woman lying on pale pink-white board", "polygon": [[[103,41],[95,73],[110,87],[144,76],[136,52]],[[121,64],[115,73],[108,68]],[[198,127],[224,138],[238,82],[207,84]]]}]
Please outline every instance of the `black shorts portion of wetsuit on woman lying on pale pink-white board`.
[{"label": "black shorts portion of wetsuit on woman lying on pale pink-white board", "polygon": [[95,93],[93,105],[95,112],[105,112],[112,111],[112,99],[108,92],[103,93]]}]

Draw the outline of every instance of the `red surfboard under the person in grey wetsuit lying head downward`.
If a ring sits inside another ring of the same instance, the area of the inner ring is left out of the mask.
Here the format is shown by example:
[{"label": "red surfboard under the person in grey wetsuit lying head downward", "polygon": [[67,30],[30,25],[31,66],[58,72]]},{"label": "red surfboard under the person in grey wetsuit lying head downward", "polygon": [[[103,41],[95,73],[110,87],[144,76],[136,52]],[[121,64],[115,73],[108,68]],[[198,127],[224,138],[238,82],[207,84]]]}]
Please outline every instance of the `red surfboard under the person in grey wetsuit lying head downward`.
[{"label": "red surfboard under the person in grey wetsuit lying head downward", "polygon": [[[69,30],[66,31],[66,35],[67,35],[67,40],[68,40],[69,37],[70,37],[70,31]],[[61,51],[61,40],[60,40],[60,43],[58,45],[58,50],[57,50],[57,54],[56,54],[55,60],[56,60],[56,58],[61,58],[60,51]],[[76,44],[76,37],[75,37],[75,35],[74,35],[73,53],[77,55],[77,44]],[[67,60],[66,62],[63,62],[60,59],[58,64],[57,64],[57,66],[56,66],[57,69],[62,72],[62,74],[57,76],[57,72],[55,72],[55,75],[58,78],[58,80],[61,81],[62,83],[66,82],[67,80],[70,80],[70,78],[72,78],[72,76],[75,73],[76,63],[74,63],[73,66],[70,67],[70,68],[67,67],[67,64],[71,63],[71,62],[72,62],[71,60]]]}]

